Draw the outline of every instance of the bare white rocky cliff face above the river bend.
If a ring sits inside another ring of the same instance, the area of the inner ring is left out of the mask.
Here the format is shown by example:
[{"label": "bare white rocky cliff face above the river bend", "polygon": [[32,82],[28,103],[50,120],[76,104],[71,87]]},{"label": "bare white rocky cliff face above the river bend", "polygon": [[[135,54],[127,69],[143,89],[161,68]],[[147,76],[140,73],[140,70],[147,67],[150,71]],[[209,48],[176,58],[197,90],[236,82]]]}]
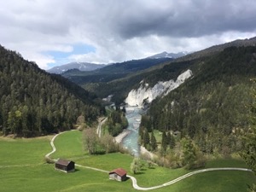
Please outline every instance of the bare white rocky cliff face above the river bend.
[{"label": "bare white rocky cliff face above the river bend", "polygon": [[171,90],[176,89],[186,79],[189,79],[192,74],[191,70],[187,70],[180,74],[176,81],[173,79],[165,82],[159,81],[157,84],[154,84],[154,87],[148,87],[148,84],[142,81],[137,90],[130,91],[125,102],[130,106],[143,108],[144,103],[152,102],[157,96],[166,96]]}]

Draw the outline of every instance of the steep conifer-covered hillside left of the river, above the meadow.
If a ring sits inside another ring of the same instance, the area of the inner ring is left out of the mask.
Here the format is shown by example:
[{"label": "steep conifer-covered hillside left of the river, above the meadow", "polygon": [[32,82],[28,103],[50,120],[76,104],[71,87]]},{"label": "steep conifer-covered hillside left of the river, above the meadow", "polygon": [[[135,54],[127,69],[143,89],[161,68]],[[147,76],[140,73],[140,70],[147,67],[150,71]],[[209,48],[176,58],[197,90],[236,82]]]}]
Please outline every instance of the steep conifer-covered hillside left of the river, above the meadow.
[{"label": "steep conifer-covered hillside left of the river, above the meadow", "polygon": [[87,91],[51,76],[0,46],[0,131],[33,137],[73,128],[79,115],[96,120],[100,107]]}]

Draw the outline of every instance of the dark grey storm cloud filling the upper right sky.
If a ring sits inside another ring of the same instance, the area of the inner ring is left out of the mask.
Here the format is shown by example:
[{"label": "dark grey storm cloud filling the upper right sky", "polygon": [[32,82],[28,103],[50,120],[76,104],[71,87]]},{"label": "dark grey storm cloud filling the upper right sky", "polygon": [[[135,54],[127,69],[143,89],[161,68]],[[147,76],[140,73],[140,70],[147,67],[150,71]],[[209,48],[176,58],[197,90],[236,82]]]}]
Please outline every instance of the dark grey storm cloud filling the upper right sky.
[{"label": "dark grey storm cloud filling the upper right sky", "polygon": [[[172,2],[172,1],[171,1]],[[182,2],[182,3],[180,3]],[[220,32],[251,32],[256,29],[256,1],[177,1],[164,8],[123,10],[116,26],[123,38],[148,34],[201,37]]]}]

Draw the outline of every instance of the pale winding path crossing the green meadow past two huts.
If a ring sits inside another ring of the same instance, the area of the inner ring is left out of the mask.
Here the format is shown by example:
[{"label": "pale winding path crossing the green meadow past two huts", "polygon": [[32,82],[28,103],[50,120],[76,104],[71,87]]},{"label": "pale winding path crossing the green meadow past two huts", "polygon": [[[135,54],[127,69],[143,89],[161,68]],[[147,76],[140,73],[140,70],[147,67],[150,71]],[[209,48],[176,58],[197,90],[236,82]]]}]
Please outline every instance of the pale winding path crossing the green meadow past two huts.
[{"label": "pale winding path crossing the green meadow past two huts", "polygon": [[[59,135],[65,133],[65,132],[66,132],[66,131],[61,132],[61,133],[55,135],[55,137],[53,137],[53,138],[51,139],[50,145],[51,145],[51,147],[52,147],[52,151],[49,152],[49,154],[46,154],[46,155],[45,155],[45,157],[46,157],[46,158],[49,158],[49,160],[51,160],[50,157],[49,157],[49,155],[55,153],[55,151],[56,151],[55,144],[54,144],[55,138],[58,137]],[[97,171],[97,172],[106,172],[106,173],[108,173],[108,171],[105,171],[105,170],[102,170],[102,169],[97,169],[97,168],[95,168],[95,167],[81,166],[81,165],[78,165],[78,164],[76,164],[76,166],[84,167],[84,168],[86,168],[86,169],[95,170],[95,171]],[[163,183],[163,184],[160,184],[160,185],[156,185],[156,186],[153,186],[153,187],[148,187],[148,188],[144,188],[144,187],[138,186],[138,185],[137,185],[137,179],[136,179],[136,177],[133,177],[133,176],[130,176],[130,175],[127,175],[127,177],[130,177],[130,178],[131,178],[132,187],[133,187],[134,189],[137,189],[137,190],[152,190],[152,189],[163,188],[163,187],[166,187],[166,186],[168,186],[168,185],[177,183],[177,182],[183,180],[183,179],[186,178],[186,177],[191,177],[191,176],[193,176],[193,175],[195,175],[195,174],[199,174],[199,173],[201,173],[201,172],[214,172],[214,171],[241,171],[241,172],[253,172],[253,171],[250,170],[250,169],[246,169],[246,168],[236,168],[236,167],[207,168],[207,169],[197,170],[197,171],[195,171],[195,172],[189,172],[189,173],[187,173],[187,174],[185,174],[185,175],[183,175],[183,176],[181,176],[181,177],[177,177],[177,178],[173,179],[172,181],[169,181],[169,182],[166,182],[166,183]]]}]

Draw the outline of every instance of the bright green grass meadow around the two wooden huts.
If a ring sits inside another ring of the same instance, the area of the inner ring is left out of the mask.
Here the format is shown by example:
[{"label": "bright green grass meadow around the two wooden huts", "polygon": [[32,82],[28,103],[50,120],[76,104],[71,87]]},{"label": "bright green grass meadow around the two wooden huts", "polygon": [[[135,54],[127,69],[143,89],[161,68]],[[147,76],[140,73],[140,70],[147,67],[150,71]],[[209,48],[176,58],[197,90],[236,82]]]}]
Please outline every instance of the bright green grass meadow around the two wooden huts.
[{"label": "bright green grass meadow around the two wooden huts", "polygon": [[[52,158],[67,158],[83,166],[111,171],[123,167],[128,171],[132,157],[127,154],[88,155],[84,153],[79,131],[69,131],[55,139],[57,151]],[[44,163],[44,155],[51,151],[50,137],[6,139],[0,137],[0,191],[136,191],[131,180],[115,182],[108,173],[77,167],[73,173],[55,171],[53,164]],[[241,160],[212,160],[207,167],[247,167]],[[154,167],[144,169],[137,177],[142,187],[166,183],[187,173],[183,169]],[[247,191],[247,184],[256,181],[251,172],[204,172],[153,191],[216,192]]]}]

